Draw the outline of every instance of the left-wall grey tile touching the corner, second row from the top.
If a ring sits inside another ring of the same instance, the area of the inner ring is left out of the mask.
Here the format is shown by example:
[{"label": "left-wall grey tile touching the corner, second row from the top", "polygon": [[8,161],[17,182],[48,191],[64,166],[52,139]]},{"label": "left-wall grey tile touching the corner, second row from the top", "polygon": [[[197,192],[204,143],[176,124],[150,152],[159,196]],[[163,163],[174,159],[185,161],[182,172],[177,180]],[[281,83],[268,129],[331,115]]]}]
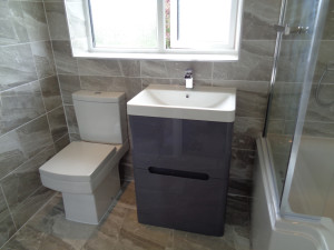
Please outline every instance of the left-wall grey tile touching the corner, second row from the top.
[{"label": "left-wall grey tile touching the corner, second row from the top", "polygon": [[41,79],[56,74],[51,42],[32,42],[31,50],[38,78]]}]

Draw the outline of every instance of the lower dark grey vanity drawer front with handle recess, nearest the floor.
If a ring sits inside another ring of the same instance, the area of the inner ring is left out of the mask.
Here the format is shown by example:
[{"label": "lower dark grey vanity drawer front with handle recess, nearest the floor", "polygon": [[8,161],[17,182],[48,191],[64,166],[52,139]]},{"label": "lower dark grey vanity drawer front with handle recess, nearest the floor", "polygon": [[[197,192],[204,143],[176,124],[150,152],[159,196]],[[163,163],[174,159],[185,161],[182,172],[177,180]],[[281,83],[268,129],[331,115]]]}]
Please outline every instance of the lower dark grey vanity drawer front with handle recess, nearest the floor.
[{"label": "lower dark grey vanity drawer front with handle recess, nearest the floor", "polygon": [[224,233],[227,179],[166,169],[135,169],[135,179],[139,222],[210,236]]}]

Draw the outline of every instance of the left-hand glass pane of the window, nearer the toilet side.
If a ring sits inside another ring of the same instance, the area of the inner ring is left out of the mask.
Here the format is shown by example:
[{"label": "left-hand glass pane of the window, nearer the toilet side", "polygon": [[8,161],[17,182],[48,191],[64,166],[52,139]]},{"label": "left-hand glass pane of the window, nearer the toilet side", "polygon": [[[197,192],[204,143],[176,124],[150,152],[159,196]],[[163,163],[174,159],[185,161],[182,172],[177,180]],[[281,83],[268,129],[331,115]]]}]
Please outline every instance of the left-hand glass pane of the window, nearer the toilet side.
[{"label": "left-hand glass pane of the window, nearer the toilet side", "polygon": [[91,0],[96,48],[158,48],[157,0]]}]

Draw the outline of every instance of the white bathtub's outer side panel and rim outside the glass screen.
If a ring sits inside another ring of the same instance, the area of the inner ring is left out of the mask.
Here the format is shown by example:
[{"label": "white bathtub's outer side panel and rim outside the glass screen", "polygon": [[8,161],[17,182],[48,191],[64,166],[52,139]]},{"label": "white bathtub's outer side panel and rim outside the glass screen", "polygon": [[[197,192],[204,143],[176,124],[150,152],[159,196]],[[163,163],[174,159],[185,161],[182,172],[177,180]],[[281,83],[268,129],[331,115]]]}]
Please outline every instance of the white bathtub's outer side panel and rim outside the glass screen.
[{"label": "white bathtub's outer side panel and rim outside the glass screen", "polygon": [[308,220],[283,217],[269,164],[265,139],[257,140],[252,203],[252,246],[254,250],[333,250],[331,219]]}]

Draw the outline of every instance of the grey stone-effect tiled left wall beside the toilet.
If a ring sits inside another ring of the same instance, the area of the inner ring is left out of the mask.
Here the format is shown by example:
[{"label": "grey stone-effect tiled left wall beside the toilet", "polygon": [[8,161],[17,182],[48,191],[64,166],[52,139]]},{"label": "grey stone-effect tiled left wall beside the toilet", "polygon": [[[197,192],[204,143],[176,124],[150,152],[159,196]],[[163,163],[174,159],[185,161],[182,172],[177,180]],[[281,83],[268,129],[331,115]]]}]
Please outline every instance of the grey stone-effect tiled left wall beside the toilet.
[{"label": "grey stone-effect tiled left wall beside the toilet", "polygon": [[0,27],[1,248],[53,196],[38,168],[69,139],[43,1],[1,1]]}]

